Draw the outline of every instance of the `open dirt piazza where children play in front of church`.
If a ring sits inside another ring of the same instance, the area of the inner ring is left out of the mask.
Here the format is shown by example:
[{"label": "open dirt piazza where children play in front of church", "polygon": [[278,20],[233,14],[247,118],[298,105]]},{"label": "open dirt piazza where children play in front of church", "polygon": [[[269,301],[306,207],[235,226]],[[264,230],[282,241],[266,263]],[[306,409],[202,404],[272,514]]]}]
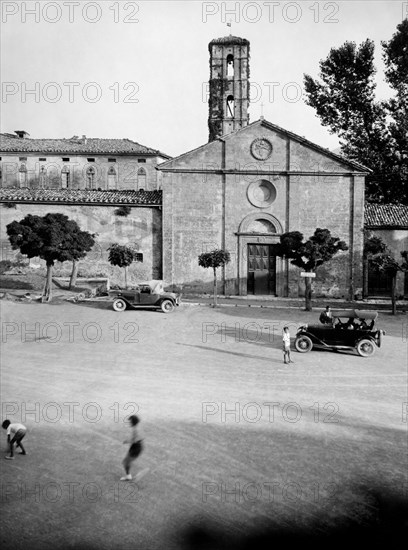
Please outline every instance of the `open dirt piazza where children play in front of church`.
[{"label": "open dirt piazza where children play in front of church", "polygon": [[[284,324],[318,312],[1,306],[2,418],[28,428],[27,456],[2,461],[6,546],[184,548],[194,525],[325,528],[364,513],[358,485],[407,490],[405,314],[380,313],[372,358],[284,365]],[[134,413],[150,471],[120,482]]]}]

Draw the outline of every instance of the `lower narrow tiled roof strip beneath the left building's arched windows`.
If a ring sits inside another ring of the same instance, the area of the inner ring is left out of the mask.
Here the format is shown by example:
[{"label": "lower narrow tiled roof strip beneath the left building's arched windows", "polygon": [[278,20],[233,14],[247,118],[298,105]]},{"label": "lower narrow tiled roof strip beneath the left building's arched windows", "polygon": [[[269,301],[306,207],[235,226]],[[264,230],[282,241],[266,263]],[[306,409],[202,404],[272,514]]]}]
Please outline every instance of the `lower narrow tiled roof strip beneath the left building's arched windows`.
[{"label": "lower narrow tiled roof strip beneath the left building's arched windows", "polygon": [[161,191],[97,191],[88,189],[0,189],[0,202],[62,204],[127,204],[161,206]]}]

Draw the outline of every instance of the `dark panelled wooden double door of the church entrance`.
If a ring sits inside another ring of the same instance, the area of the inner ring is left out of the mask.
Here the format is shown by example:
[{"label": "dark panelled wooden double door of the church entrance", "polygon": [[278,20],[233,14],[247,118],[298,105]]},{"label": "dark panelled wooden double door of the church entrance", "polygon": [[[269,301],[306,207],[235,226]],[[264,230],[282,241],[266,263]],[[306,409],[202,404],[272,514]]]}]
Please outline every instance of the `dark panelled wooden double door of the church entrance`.
[{"label": "dark panelled wooden double door of the church entrance", "polygon": [[276,246],[248,244],[248,294],[276,295]]}]

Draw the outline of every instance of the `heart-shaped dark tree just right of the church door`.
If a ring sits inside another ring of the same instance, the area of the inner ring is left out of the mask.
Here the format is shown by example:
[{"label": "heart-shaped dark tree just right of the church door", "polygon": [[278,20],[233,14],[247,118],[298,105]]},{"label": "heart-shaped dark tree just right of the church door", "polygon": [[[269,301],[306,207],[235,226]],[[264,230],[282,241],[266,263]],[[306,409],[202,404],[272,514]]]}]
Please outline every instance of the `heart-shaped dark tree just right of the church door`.
[{"label": "heart-shaped dark tree just right of the church door", "polygon": [[[281,235],[277,255],[290,259],[292,265],[312,273],[341,250],[348,250],[344,241],[338,237],[332,237],[328,229],[317,228],[308,241],[303,241],[303,234],[299,231],[290,231]],[[312,311],[310,277],[305,277],[305,286],[305,309]]]}]

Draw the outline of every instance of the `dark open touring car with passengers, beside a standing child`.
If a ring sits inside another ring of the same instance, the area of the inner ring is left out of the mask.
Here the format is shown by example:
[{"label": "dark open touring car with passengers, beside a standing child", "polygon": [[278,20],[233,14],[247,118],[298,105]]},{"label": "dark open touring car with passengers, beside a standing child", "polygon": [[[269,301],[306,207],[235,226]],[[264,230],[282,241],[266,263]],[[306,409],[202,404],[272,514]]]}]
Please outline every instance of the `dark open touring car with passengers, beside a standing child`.
[{"label": "dark open touring car with passengers, beside a standing child", "polygon": [[333,323],[303,325],[296,333],[295,348],[306,353],[312,348],[355,350],[362,357],[370,357],[381,347],[383,330],[375,329],[376,311],[343,309],[332,311]]}]

